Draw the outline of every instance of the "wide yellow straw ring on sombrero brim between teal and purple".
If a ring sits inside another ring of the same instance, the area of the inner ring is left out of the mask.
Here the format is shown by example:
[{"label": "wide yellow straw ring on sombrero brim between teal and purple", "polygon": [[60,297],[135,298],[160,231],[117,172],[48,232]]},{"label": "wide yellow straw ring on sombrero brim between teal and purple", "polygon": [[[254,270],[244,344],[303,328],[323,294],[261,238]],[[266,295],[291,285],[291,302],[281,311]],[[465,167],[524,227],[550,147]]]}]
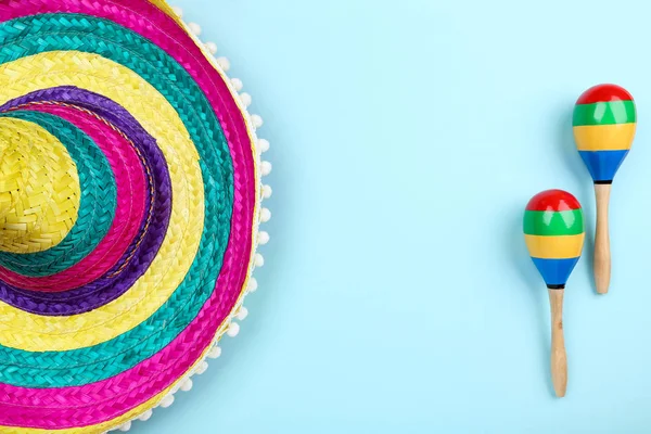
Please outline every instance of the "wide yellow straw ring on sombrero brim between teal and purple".
[{"label": "wide yellow straw ring on sombrero brim between teal and purple", "polygon": [[[76,51],[47,52],[0,66],[0,103],[36,90],[71,85],[123,105],[156,139],[165,159],[174,162],[168,166],[174,192],[169,233],[133,286],[95,310],[41,317],[0,303],[0,344],[27,352],[97,345],[146,320],[181,284],[203,233],[204,189],[199,154],[178,114],[149,82],[115,62]],[[200,200],[190,201],[189,190]]]}]

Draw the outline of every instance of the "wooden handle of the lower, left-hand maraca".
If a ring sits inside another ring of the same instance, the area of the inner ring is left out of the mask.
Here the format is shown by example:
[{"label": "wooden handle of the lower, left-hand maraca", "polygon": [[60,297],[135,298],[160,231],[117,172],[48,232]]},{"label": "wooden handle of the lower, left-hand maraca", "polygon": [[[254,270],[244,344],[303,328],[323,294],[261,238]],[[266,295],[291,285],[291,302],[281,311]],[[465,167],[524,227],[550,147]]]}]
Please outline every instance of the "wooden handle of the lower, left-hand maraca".
[{"label": "wooden handle of the lower, left-hand maraca", "polygon": [[551,381],[559,398],[567,388],[567,356],[563,336],[563,294],[564,290],[549,290],[551,307]]}]

